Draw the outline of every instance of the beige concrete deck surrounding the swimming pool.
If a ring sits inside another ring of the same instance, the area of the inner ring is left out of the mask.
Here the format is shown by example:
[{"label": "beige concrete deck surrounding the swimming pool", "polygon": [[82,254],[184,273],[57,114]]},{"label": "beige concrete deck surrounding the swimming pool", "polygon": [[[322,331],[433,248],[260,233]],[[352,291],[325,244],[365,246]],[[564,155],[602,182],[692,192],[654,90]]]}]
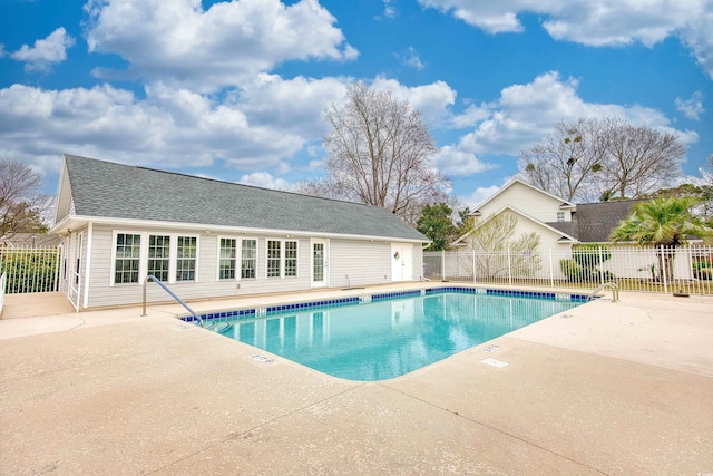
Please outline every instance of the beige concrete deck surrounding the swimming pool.
[{"label": "beige concrete deck surrounding the swimming pool", "polygon": [[[191,305],[383,289],[403,286]],[[14,298],[2,475],[713,473],[712,297],[622,293],[380,382],[255,360],[175,304],[76,314],[46,295],[22,315]]]}]

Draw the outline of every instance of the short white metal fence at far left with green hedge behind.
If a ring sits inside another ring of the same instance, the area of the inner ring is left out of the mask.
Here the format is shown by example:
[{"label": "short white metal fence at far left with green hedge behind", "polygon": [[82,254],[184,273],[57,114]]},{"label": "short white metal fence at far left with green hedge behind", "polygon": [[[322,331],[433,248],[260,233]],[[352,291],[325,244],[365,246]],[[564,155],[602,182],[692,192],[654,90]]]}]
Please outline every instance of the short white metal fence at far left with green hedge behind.
[{"label": "short white metal fence at far left with green hedge behind", "polygon": [[50,292],[59,289],[60,249],[0,249],[0,272],[6,294]]}]

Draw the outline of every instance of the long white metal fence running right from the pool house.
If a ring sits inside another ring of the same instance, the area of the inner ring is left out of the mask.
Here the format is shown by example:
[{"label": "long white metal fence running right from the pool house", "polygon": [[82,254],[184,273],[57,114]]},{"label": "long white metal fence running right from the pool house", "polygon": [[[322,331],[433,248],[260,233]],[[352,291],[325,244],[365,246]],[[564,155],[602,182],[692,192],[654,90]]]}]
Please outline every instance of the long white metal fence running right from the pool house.
[{"label": "long white metal fence running right from the pool house", "polygon": [[424,252],[423,276],[433,281],[585,289],[614,282],[624,291],[713,294],[713,247]]}]

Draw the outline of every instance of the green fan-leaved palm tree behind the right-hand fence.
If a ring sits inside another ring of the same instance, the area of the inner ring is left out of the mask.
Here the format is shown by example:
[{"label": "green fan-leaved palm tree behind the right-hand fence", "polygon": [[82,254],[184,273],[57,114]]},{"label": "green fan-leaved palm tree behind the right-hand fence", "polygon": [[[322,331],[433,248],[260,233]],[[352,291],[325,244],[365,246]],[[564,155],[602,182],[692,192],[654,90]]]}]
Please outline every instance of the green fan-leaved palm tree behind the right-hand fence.
[{"label": "green fan-leaved palm tree behind the right-hand fence", "polygon": [[682,245],[686,235],[713,235],[713,227],[693,215],[691,210],[700,204],[694,197],[658,197],[634,206],[632,216],[612,231],[613,242],[635,241],[639,245],[656,246],[658,279],[673,280],[675,249]]}]

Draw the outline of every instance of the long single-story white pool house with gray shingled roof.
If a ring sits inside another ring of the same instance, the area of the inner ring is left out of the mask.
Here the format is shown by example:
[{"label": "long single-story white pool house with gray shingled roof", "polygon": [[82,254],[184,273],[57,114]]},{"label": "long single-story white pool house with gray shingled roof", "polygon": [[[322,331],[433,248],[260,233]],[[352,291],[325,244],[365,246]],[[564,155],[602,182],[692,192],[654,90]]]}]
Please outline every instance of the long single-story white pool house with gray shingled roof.
[{"label": "long single-story white pool house with gray shingled roof", "polygon": [[[148,274],[184,300],[419,280],[428,239],[389,211],[65,155],[60,290],[137,304]],[[170,298],[148,285],[148,301]]]}]

